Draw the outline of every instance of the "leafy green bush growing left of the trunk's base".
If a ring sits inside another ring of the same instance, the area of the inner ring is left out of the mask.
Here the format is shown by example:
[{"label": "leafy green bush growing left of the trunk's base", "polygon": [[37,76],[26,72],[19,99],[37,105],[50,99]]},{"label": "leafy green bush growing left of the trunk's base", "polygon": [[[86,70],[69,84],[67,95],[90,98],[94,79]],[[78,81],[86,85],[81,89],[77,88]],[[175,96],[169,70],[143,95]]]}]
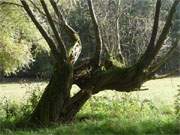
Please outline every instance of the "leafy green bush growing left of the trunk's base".
[{"label": "leafy green bush growing left of the trunk's base", "polygon": [[25,103],[18,104],[16,101],[8,100],[6,97],[0,103],[0,118],[3,121],[19,121],[29,117],[39,102],[42,90],[40,86],[32,87],[26,84],[29,91]]}]

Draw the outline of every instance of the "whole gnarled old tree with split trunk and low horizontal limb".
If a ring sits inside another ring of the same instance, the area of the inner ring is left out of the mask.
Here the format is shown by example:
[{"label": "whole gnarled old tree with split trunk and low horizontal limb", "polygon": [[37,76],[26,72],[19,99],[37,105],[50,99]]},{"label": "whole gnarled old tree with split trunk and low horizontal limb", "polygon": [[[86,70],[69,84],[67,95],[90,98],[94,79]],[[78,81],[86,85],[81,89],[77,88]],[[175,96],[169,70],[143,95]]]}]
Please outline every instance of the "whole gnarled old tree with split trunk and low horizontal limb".
[{"label": "whole gnarled old tree with split trunk and low horizontal limb", "polygon": [[[29,119],[30,122],[36,124],[71,121],[92,95],[106,89],[119,92],[139,90],[145,81],[153,78],[156,71],[178,45],[178,39],[176,39],[176,44],[173,44],[166,54],[158,59],[158,62],[156,61],[156,56],[168,36],[173,15],[180,2],[174,0],[163,30],[158,34],[162,2],[157,0],[152,34],[146,51],[136,64],[130,67],[123,64],[117,66],[110,59],[102,57],[104,46],[100,26],[92,0],[87,0],[89,14],[94,26],[96,41],[94,46],[96,49],[92,58],[81,61],[80,64],[76,65],[75,63],[79,58],[83,45],[78,32],[68,24],[63,16],[62,6],[59,5],[59,1],[39,0],[39,7],[31,0],[20,0],[20,2],[31,21],[46,40],[54,58],[52,77]],[[34,10],[32,10],[32,6],[36,7],[37,11],[44,16],[48,26],[39,21]],[[71,42],[64,41],[62,33],[69,36]],[[71,44],[71,49],[68,49],[68,43]],[[122,52],[119,52],[119,54],[121,55]],[[123,56],[121,57],[120,62],[124,63]],[[73,97],[70,96],[72,84],[77,84],[81,88]]]}]

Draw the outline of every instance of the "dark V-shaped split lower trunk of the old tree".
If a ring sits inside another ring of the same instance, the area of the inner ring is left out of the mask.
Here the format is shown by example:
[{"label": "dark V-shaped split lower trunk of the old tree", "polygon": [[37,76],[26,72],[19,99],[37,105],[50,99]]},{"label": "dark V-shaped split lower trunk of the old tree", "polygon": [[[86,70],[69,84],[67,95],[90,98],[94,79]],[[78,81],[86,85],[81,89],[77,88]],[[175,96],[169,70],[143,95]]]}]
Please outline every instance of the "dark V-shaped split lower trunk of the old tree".
[{"label": "dark V-shaped split lower trunk of the old tree", "polygon": [[75,118],[91,95],[86,91],[80,91],[74,97],[70,97],[72,69],[72,65],[67,63],[61,67],[55,66],[54,74],[30,117],[30,123],[48,125],[72,121]]}]

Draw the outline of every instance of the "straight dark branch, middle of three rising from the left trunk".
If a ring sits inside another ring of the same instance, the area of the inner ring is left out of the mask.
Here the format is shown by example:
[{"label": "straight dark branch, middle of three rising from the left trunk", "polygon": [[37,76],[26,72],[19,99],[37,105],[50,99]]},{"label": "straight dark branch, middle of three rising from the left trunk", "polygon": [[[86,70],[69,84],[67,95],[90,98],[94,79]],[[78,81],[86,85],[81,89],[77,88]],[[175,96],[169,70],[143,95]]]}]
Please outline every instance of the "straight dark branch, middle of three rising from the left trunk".
[{"label": "straight dark branch, middle of three rising from the left trunk", "polygon": [[55,35],[55,38],[56,38],[57,43],[58,43],[58,47],[61,50],[61,58],[66,60],[67,59],[66,47],[64,45],[64,42],[63,42],[62,38],[60,37],[60,35],[58,33],[58,30],[56,29],[56,26],[55,26],[55,24],[53,22],[53,19],[52,19],[50,13],[49,13],[49,10],[48,10],[47,5],[46,5],[44,0],[41,0],[41,5],[43,7],[44,12],[46,13],[48,22],[49,22],[49,24],[50,24],[50,26],[52,28],[52,31],[53,31],[53,33]]}]

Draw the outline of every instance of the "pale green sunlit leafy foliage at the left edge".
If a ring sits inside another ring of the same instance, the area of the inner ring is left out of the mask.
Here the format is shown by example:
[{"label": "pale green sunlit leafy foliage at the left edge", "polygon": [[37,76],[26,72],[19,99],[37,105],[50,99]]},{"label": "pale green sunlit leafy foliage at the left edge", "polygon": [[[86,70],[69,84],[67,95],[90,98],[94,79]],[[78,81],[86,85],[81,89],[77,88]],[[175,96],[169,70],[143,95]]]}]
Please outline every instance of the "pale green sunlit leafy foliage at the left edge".
[{"label": "pale green sunlit leafy foliage at the left edge", "polygon": [[4,76],[29,68],[34,61],[33,44],[38,44],[39,50],[48,51],[33,23],[24,16],[22,7],[9,2],[0,0],[0,78],[1,72]]}]

